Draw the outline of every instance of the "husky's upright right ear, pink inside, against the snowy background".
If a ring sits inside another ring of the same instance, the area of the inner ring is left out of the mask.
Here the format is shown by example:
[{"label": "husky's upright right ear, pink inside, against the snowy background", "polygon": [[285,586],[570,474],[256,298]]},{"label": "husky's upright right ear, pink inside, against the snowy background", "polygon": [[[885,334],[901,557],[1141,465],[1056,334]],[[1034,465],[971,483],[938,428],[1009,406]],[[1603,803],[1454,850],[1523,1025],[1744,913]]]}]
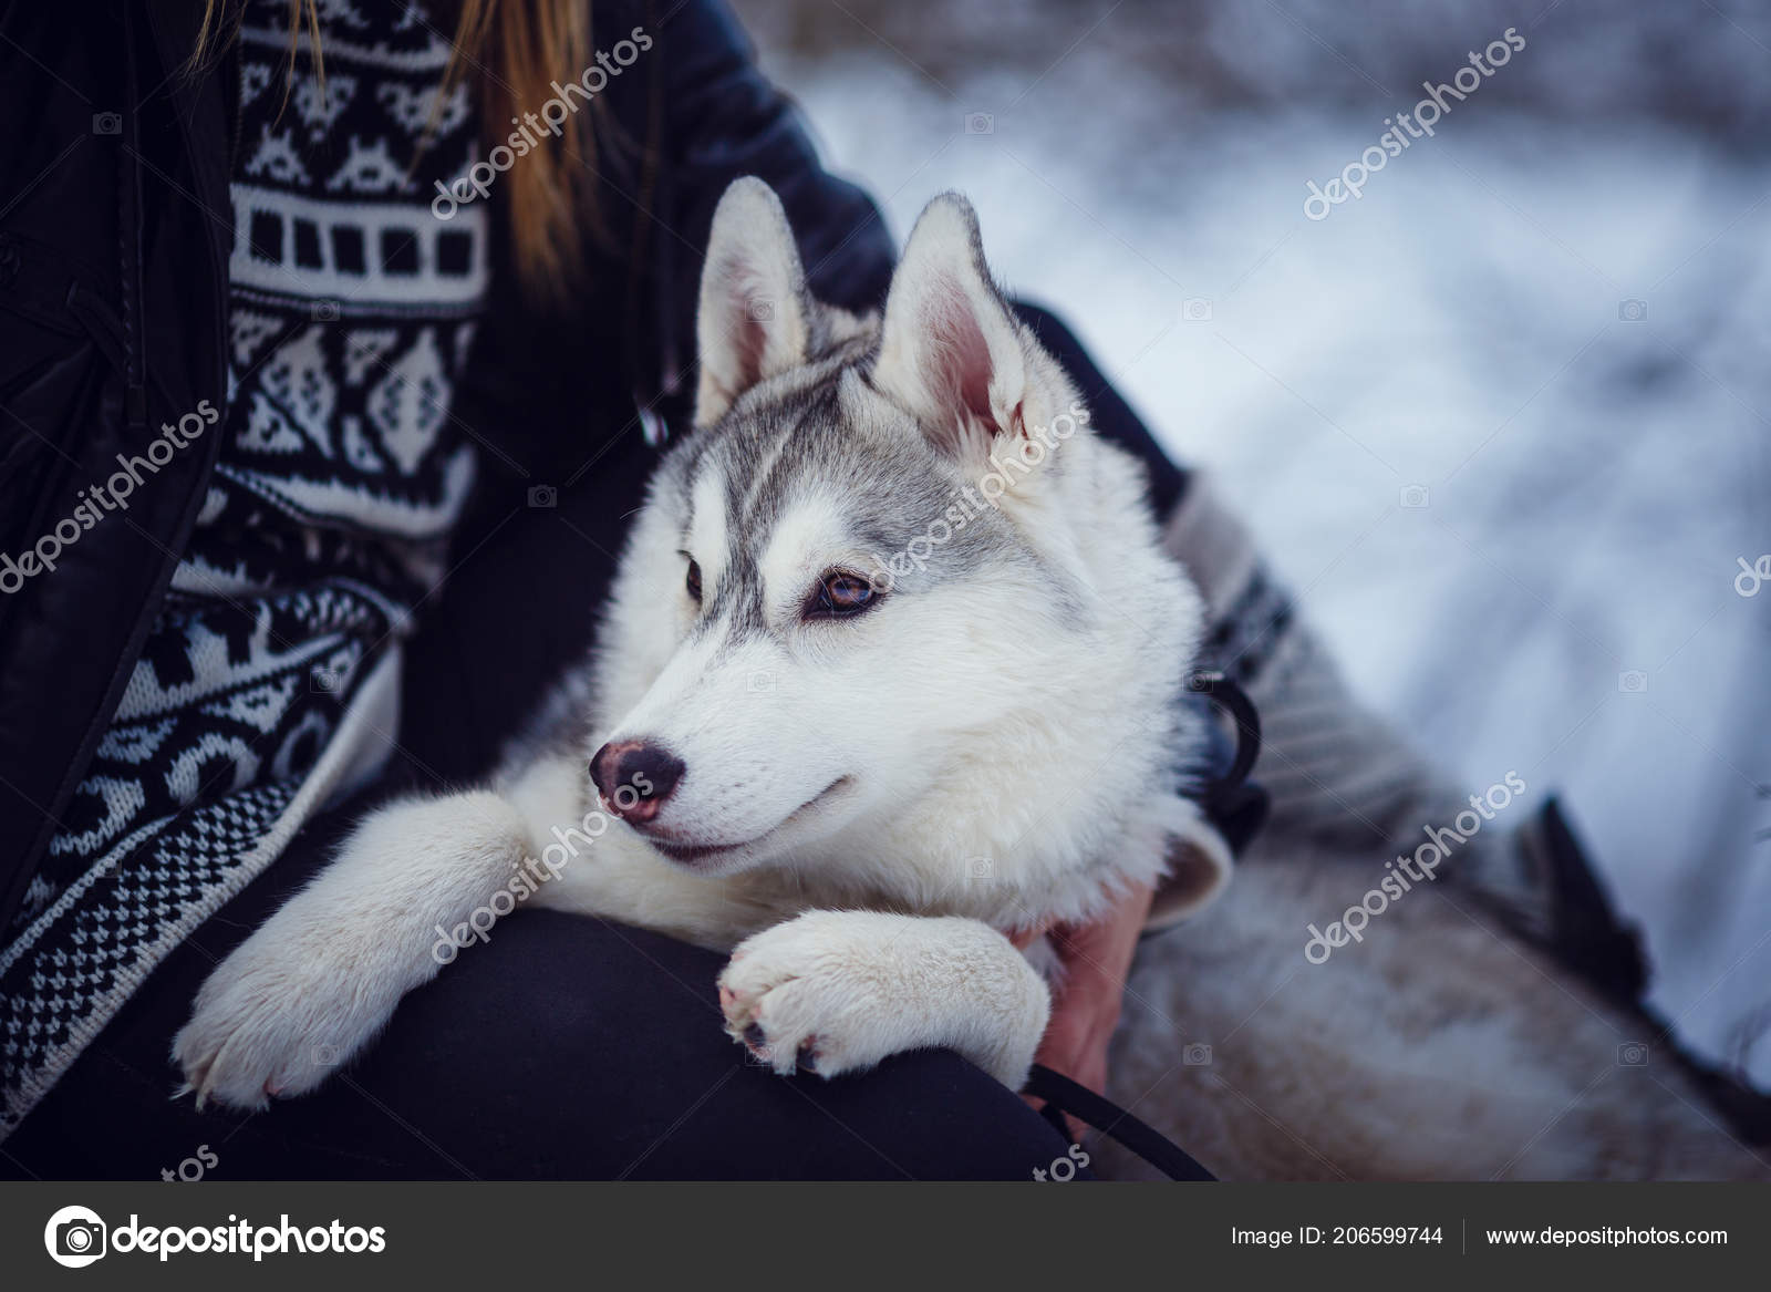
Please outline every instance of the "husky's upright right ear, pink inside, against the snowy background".
[{"label": "husky's upright right ear, pink inside, against the snowy background", "polygon": [[[978,216],[958,193],[930,202],[886,296],[873,385],[955,455],[1024,429],[1027,353],[990,280]],[[981,450],[981,452],[979,452]]]}]

